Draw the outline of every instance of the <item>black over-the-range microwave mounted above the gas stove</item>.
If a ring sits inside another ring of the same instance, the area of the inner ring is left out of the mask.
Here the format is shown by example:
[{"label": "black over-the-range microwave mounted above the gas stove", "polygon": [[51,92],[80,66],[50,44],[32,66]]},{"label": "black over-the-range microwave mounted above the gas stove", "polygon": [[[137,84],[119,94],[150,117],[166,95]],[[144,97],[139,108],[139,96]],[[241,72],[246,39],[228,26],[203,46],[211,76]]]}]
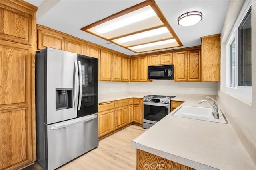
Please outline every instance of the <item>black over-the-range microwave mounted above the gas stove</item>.
[{"label": "black over-the-range microwave mounted above the gas stove", "polygon": [[149,66],[148,79],[174,79],[174,65]]}]

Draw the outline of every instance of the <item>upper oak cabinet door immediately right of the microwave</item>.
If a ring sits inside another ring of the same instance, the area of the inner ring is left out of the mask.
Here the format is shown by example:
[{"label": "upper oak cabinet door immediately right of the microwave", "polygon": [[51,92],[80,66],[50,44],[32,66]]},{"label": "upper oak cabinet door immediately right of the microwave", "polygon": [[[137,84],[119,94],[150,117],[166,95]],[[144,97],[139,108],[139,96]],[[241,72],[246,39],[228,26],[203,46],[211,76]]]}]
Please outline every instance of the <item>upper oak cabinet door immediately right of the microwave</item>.
[{"label": "upper oak cabinet door immediately right of the microwave", "polygon": [[175,53],[174,65],[174,81],[187,81],[188,80],[188,56],[187,51]]}]

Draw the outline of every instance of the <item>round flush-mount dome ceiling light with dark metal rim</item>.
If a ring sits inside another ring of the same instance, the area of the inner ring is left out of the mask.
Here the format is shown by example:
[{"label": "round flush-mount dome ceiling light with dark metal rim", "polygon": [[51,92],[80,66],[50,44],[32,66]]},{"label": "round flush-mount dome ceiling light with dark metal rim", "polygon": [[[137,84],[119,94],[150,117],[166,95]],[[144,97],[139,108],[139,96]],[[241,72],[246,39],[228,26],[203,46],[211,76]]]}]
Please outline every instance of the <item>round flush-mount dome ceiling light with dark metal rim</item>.
[{"label": "round flush-mount dome ceiling light with dark metal rim", "polygon": [[178,18],[178,24],[180,26],[191,26],[202,21],[203,14],[198,11],[186,12]]}]

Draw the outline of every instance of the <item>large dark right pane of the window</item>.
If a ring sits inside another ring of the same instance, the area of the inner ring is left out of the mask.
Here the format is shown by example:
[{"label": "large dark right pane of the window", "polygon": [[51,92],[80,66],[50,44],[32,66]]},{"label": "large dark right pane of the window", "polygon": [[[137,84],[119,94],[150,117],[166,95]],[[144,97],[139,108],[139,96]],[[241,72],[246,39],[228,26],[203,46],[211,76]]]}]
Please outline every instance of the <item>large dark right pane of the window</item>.
[{"label": "large dark right pane of the window", "polygon": [[238,86],[252,86],[251,9],[238,27]]}]

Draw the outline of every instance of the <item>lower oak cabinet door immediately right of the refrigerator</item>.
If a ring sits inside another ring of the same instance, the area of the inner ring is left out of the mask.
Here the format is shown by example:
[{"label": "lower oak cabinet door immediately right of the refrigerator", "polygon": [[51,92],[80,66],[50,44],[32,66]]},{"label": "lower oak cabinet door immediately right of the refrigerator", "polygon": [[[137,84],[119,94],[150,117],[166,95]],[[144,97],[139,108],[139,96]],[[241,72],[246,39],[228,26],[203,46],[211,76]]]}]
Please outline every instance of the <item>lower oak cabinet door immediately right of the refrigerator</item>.
[{"label": "lower oak cabinet door immediately right of the refrigerator", "polygon": [[99,112],[99,137],[115,130],[114,109]]}]

